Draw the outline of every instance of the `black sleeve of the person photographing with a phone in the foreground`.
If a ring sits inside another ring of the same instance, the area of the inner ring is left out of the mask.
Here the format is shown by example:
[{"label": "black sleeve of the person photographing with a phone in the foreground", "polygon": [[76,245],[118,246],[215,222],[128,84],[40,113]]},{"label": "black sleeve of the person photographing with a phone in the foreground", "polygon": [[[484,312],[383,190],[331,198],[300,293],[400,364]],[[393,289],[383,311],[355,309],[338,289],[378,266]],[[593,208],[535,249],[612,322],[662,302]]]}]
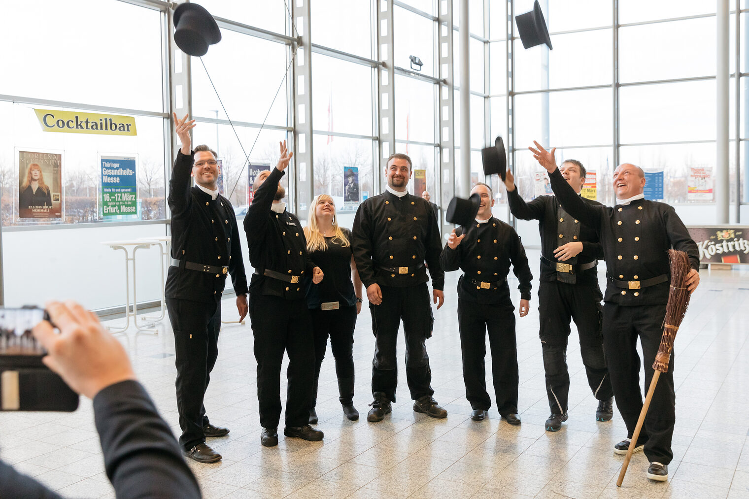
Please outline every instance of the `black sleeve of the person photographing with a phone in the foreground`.
[{"label": "black sleeve of the person photographing with a phone in the foreground", "polygon": [[106,476],[118,498],[201,497],[172,430],[137,381],[97,393],[94,420]]}]

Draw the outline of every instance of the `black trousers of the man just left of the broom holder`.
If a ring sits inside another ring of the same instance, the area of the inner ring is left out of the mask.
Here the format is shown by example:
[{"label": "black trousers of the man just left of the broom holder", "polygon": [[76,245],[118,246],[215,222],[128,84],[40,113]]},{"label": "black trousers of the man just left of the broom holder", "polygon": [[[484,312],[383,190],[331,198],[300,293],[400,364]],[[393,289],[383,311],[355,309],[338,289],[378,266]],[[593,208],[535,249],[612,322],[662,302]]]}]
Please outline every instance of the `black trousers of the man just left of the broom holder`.
[{"label": "black trousers of the man just left of the broom holder", "polygon": [[598,284],[539,283],[541,347],[546,373],[546,394],[554,414],[565,414],[569,394],[567,341],[570,320],[577,326],[580,356],[588,385],[598,400],[613,396],[601,334],[601,289]]}]

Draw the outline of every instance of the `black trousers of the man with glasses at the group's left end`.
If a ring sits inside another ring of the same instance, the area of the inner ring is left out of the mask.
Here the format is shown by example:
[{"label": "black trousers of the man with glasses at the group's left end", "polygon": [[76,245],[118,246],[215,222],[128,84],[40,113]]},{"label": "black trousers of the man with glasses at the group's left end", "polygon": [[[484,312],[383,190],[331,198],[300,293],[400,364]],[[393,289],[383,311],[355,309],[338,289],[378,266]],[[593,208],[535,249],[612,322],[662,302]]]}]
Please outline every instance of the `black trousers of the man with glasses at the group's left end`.
[{"label": "black trousers of the man with glasses at the group's left end", "polygon": [[[220,296],[220,295],[219,295]],[[203,399],[210,372],[219,356],[221,300],[202,303],[166,298],[169,321],[175,333],[177,408],[180,414],[180,445],[189,450],[205,441],[208,424]]]}]

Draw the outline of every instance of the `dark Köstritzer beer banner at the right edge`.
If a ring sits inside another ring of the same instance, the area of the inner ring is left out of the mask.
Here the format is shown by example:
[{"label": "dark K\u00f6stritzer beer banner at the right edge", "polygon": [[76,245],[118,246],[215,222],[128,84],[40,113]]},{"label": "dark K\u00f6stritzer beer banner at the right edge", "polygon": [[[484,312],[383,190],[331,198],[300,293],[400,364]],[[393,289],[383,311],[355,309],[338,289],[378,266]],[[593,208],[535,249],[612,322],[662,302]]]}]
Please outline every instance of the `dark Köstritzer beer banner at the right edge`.
[{"label": "dark K\u00f6stritzer beer banner at the right edge", "polygon": [[700,263],[749,264],[749,227],[687,226],[700,250]]}]

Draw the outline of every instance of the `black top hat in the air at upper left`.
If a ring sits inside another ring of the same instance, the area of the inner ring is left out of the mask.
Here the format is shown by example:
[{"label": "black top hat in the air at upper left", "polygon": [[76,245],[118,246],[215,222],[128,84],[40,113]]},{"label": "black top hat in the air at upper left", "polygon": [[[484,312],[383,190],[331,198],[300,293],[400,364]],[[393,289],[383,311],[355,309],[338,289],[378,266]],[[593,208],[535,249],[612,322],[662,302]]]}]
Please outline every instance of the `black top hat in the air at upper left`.
[{"label": "black top hat in the air at upper left", "polygon": [[208,46],[221,41],[216,19],[198,4],[179,4],[175,9],[175,42],[182,52],[201,57]]}]

